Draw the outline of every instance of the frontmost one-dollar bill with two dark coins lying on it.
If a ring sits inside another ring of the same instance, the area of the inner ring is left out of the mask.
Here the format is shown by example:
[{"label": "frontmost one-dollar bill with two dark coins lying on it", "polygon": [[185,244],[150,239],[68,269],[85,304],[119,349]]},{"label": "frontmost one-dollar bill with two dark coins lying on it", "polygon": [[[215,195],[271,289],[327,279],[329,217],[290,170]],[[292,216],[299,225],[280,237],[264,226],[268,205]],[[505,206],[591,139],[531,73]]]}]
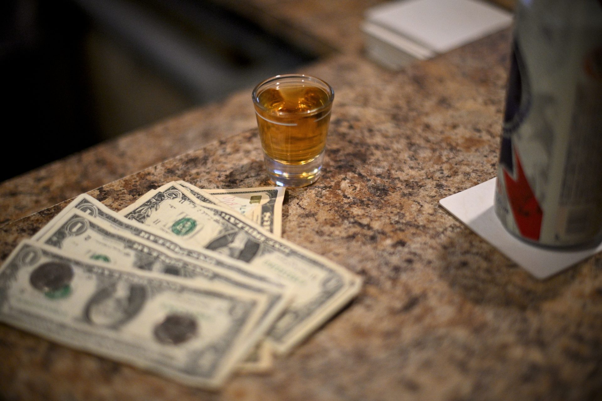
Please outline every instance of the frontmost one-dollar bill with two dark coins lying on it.
[{"label": "frontmost one-dollar bill with two dark coins lying on it", "polygon": [[261,296],[94,262],[21,242],[0,268],[0,320],[184,384],[223,384]]}]

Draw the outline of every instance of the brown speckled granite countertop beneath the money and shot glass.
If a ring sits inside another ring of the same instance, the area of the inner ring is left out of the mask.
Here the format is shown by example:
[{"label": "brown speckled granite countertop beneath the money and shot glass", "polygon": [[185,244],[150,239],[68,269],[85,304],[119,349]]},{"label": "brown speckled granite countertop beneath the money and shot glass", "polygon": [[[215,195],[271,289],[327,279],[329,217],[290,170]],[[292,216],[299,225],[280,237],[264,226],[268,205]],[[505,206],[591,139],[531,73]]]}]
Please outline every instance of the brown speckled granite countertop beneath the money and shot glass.
[{"label": "brown speckled granite countertop beneath the money and shot glass", "polygon": [[[438,206],[495,176],[509,43],[509,31],[500,32],[398,73],[345,52],[306,69],[336,97],[323,176],[287,189],[283,236],[365,282],[272,373],[235,376],[209,393],[0,324],[0,398],[600,399],[602,255],[538,281]],[[238,115],[248,97],[223,106]],[[252,109],[227,120],[219,107],[2,183],[5,221],[86,191],[72,182],[94,167],[105,181],[90,194],[113,209],[176,179],[206,188],[270,185]],[[184,153],[211,132],[223,138]],[[135,168],[129,145],[141,141],[149,162],[178,156],[108,183]],[[0,227],[2,260],[65,204]]]}]

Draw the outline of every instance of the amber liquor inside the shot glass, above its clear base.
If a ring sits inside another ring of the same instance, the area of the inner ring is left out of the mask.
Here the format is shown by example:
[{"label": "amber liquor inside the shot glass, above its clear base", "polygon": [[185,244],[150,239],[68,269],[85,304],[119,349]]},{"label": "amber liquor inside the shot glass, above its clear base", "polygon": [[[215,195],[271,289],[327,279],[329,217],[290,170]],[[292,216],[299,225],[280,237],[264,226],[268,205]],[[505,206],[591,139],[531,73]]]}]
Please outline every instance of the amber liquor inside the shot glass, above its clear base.
[{"label": "amber liquor inside the shot glass, above its clear base", "polygon": [[[321,88],[280,85],[258,95],[261,144],[267,156],[287,165],[313,161],[324,150],[330,121],[328,94]],[[266,111],[267,110],[267,111]]]}]

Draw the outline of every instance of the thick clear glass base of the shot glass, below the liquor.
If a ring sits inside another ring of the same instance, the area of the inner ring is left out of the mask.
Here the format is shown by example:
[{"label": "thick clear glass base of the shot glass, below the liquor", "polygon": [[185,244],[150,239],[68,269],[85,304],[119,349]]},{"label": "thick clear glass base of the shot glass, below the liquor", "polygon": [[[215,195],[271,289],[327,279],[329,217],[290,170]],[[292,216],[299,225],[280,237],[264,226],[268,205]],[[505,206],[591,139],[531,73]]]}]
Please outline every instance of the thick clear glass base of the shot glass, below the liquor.
[{"label": "thick clear glass base of the shot glass, below the liquor", "polygon": [[324,152],[305,164],[284,164],[264,153],[265,170],[270,180],[279,186],[299,187],[313,184],[320,177]]}]

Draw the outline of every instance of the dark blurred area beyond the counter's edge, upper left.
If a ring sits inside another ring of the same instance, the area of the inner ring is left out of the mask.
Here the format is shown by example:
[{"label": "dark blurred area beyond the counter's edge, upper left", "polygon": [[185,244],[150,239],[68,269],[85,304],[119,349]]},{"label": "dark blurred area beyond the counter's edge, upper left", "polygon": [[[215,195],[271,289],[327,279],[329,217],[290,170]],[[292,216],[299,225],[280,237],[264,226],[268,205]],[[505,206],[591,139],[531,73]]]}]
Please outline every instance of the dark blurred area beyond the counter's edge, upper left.
[{"label": "dark blurred area beyond the counter's edge, upper left", "polygon": [[0,21],[0,181],[316,58],[211,1],[5,0]]}]

